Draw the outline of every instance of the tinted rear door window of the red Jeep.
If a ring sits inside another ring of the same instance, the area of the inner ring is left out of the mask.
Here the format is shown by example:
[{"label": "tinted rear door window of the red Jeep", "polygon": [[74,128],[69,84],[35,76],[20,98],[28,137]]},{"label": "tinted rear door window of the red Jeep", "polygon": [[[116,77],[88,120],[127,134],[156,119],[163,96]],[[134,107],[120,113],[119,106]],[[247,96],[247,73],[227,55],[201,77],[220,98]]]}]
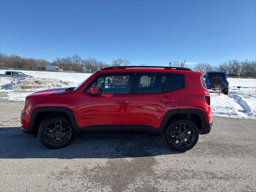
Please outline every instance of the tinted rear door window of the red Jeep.
[{"label": "tinted rear door window of the red Jeep", "polygon": [[173,75],[139,76],[139,84],[136,93],[162,93],[174,90]]}]

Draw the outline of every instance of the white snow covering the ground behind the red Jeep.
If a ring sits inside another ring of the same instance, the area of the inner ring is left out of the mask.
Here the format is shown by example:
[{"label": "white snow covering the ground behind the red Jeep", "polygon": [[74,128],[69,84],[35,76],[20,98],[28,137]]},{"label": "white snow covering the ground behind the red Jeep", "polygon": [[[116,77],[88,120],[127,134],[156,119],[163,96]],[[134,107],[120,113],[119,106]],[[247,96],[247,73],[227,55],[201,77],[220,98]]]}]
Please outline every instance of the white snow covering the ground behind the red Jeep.
[{"label": "white snow covering the ground behind the red Jeep", "polygon": [[[0,74],[4,74],[5,71],[0,70]],[[8,92],[3,99],[24,101],[27,95],[35,91],[77,86],[91,75],[89,73],[76,72],[26,70],[21,70],[21,72],[32,75],[35,78],[13,79],[0,77],[0,91]],[[248,94],[250,90],[256,89],[256,79],[228,78],[228,81],[228,95],[211,93],[212,115],[256,119],[256,95]],[[241,86],[240,90],[238,90],[237,86]]]}]

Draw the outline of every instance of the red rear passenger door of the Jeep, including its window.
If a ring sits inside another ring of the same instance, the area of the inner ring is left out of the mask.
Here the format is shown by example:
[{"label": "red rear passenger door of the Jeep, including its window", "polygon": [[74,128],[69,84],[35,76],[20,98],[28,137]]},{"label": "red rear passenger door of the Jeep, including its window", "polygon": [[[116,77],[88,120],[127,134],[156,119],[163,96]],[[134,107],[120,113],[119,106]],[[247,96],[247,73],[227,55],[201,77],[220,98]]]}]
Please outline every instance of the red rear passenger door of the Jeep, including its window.
[{"label": "red rear passenger door of the Jeep, including its window", "polygon": [[129,118],[129,132],[157,132],[164,114],[178,109],[174,75],[137,73]]}]

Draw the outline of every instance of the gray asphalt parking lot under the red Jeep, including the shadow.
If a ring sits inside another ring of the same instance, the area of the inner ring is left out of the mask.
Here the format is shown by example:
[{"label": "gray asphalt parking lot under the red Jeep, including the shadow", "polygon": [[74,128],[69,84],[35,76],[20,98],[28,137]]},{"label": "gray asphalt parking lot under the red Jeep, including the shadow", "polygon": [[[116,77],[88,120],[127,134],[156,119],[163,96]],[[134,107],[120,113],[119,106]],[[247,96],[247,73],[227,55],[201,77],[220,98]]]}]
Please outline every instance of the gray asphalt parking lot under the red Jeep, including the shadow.
[{"label": "gray asphalt parking lot under the red Jeep, including the shadow", "polygon": [[20,129],[23,102],[0,102],[0,191],[256,191],[256,120],[213,117],[187,152],[163,136],[76,136],[49,150]]}]

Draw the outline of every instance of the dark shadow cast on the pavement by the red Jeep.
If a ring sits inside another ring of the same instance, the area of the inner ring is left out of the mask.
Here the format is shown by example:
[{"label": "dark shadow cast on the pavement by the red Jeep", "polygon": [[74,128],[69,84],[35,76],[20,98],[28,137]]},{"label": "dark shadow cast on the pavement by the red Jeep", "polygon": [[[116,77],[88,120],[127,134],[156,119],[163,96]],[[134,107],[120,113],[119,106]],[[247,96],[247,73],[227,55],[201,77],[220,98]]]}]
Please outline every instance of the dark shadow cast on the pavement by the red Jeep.
[{"label": "dark shadow cast on the pavement by the red Jeep", "polygon": [[77,135],[65,148],[51,150],[38,136],[25,134],[19,127],[0,128],[0,158],[132,158],[179,153],[166,144],[164,136]]}]

